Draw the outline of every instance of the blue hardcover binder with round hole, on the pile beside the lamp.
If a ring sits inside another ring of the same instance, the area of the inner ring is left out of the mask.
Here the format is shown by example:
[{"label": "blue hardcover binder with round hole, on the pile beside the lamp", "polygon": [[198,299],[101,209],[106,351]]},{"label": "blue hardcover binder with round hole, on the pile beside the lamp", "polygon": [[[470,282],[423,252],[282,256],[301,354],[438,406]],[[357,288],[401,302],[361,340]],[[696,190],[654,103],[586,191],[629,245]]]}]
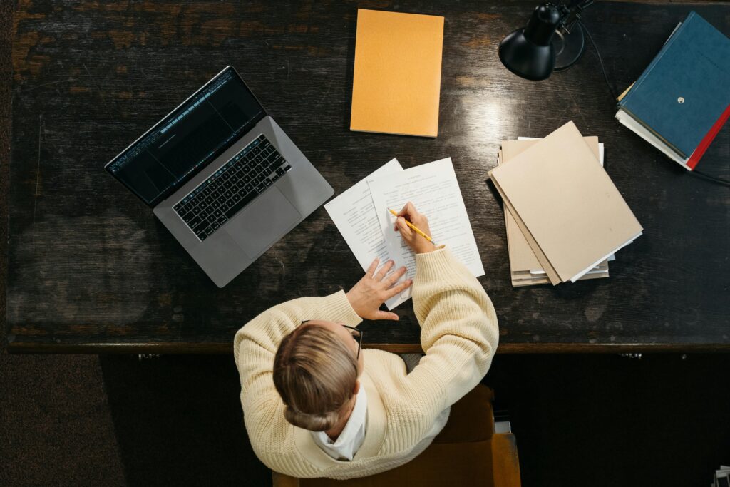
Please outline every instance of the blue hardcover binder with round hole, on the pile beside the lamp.
[{"label": "blue hardcover binder with round hole, on the pile beside the lamp", "polygon": [[730,39],[690,12],[618,107],[694,169],[730,115]]}]

